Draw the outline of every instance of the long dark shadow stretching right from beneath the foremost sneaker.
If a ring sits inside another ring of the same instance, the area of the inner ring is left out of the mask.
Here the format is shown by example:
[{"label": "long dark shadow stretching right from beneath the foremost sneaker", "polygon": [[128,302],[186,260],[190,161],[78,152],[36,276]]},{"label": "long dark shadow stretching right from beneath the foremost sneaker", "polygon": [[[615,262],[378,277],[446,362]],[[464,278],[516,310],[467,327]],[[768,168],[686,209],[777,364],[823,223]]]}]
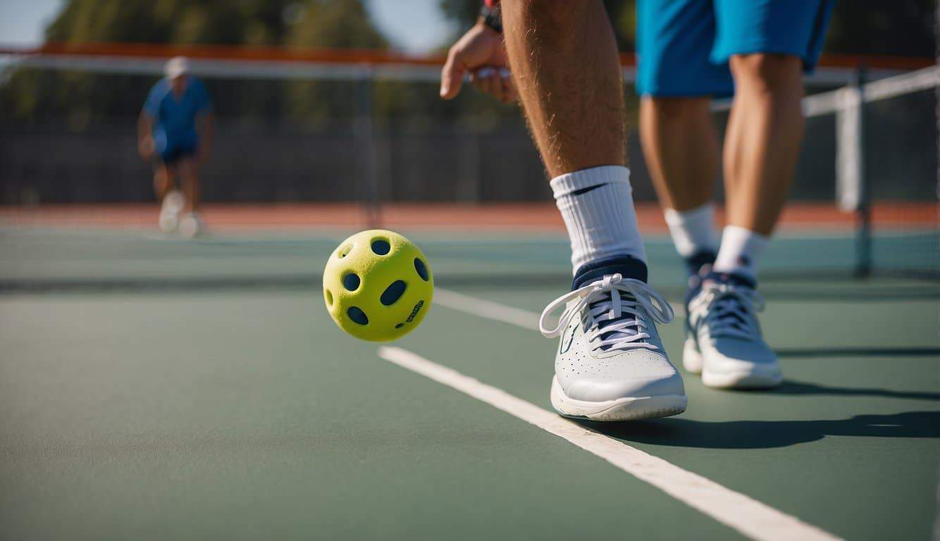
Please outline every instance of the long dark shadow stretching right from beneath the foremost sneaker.
[{"label": "long dark shadow stretching right from beneath the foremost sneaker", "polygon": [[855,415],[820,421],[693,421],[666,418],[633,423],[576,421],[592,432],[626,442],[667,447],[765,449],[822,440],[826,436],[940,439],[940,411]]}]

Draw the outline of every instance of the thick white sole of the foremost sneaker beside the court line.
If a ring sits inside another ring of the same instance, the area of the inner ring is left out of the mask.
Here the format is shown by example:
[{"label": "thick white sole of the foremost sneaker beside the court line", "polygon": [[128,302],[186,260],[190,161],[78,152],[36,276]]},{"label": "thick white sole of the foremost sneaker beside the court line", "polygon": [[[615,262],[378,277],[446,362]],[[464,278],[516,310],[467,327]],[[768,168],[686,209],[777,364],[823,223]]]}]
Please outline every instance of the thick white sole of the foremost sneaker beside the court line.
[{"label": "thick white sole of the foremost sneaker beside the court line", "polygon": [[557,378],[552,379],[552,407],[563,417],[591,421],[638,421],[678,415],[685,411],[688,397],[684,394],[661,396],[628,396],[617,400],[587,402],[569,398]]}]

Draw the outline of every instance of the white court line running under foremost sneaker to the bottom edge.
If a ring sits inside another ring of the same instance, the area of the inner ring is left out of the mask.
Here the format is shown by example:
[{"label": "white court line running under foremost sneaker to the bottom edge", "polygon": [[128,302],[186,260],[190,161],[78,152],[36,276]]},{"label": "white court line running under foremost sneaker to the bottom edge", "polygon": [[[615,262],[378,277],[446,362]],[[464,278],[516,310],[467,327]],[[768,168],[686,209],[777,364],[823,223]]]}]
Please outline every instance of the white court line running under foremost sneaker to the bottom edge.
[{"label": "white court line running under foremost sneaker to the bottom edge", "polygon": [[591,432],[581,425],[526,402],[502,389],[464,376],[402,348],[379,348],[385,361],[433,379],[447,387],[468,394],[497,410],[536,425],[550,434],[571,441],[588,453],[600,456],[622,471],[666,492],[718,522],[761,541],[798,539],[801,541],[838,539],[799,518],[777,511],[740,492],[682,470],[662,458],[649,455],[621,441]]}]

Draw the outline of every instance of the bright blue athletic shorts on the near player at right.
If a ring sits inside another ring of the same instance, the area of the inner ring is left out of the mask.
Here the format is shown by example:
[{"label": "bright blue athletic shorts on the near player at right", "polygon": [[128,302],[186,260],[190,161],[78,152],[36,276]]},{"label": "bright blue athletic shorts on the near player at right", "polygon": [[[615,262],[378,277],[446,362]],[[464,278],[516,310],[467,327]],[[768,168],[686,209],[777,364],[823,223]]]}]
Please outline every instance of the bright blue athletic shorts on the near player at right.
[{"label": "bright blue athletic shorts on the near player at right", "polygon": [[835,0],[637,0],[636,91],[734,94],[732,54],[792,54],[811,71]]}]

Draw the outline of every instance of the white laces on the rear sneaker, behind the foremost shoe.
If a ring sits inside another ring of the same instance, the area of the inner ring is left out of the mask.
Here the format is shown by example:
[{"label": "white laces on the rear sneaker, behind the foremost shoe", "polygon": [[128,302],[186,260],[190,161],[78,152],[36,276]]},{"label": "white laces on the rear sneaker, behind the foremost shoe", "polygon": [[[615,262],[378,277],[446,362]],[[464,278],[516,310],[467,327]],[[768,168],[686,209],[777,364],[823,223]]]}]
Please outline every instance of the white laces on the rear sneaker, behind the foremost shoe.
[{"label": "white laces on the rear sneaker, behind the foremost shoe", "polygon": [[753,338],[757,332],[754,312],[763,310],[764,301],[750,287],[731,284],[707,284],[689,302],[689,312],[705,313],[713,336]]}]

